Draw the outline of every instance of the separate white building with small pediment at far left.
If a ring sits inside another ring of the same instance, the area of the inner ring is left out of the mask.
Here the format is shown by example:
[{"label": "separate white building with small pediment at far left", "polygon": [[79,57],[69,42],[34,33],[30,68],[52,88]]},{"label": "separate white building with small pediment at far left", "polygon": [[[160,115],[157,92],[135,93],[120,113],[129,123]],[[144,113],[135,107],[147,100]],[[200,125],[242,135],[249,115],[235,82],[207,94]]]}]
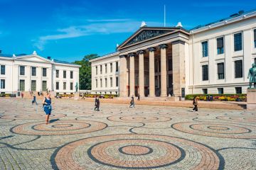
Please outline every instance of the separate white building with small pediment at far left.
[{"label": "separate white building with small pediment at far left", "polygon": [[32,55],[4,55],[0,53],[0,92],[55,91],[57,94],[75,93],[79,84],[80,65]]}]

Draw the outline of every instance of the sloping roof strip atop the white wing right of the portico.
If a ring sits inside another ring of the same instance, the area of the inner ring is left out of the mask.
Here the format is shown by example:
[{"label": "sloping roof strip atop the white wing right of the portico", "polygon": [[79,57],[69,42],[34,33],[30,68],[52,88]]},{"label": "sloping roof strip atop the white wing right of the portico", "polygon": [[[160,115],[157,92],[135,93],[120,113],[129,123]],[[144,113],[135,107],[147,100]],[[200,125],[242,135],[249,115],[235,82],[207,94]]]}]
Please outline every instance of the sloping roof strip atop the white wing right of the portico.
[{"label": "sloping roof strip atop the white wing right of the portico", "polygon": [[205,27],[209,27],[210,28],[210,26],[213,26],[213,25],[215,25],[217,23],[227,23],[227,21],[230,21],[233,18],[239,18],[241,16],[242,16],[242,18],[246,18],[247,16],[250,16],[249,14],[252,14],[252,13],[256,14],[256,9],[253,9],[253,10],[250,10],[250,11],[246,11],[246,12],[241,10],[241,11],[238,11],[238,13],[233,13],[232,15],[230,15],[227,18],[222,18],[222,19],[220,19],[218,21],[207,23],[205,25],[196,26],[196,27],[192,28],[190,31],[192,31],[192,30],[199,30],[199,29],[205,28]]}]

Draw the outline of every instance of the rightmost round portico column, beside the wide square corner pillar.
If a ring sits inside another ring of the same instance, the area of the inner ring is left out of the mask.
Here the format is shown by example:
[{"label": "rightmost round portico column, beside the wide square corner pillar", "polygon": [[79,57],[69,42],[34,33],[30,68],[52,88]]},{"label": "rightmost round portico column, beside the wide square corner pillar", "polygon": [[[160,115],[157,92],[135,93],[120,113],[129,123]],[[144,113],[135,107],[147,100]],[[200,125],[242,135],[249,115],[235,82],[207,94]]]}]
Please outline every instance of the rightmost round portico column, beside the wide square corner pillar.
[{"label": "rightmost round portico column, beside the wide square corner pillar", "polygon": [[166,86],[166,48],[168,45],[159,45],[161,49],[161,97],[167,96],[167,86]]}]

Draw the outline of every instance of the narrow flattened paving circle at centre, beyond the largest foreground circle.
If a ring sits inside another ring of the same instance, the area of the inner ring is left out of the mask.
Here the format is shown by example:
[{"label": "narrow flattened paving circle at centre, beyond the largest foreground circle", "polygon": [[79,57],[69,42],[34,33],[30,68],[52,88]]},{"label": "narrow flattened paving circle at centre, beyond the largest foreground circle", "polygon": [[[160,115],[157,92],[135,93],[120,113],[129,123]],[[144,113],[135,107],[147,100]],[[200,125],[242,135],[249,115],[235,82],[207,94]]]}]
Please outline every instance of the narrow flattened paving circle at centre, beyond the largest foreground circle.
[{"label": "narrow flattened paving circle at centre, beyond the largest foreground circle", "polygon": [[112,115],[107,119],[114,122],[124,123],[154,123],[167,122],[171,120],[169,117],[159,115]]}]

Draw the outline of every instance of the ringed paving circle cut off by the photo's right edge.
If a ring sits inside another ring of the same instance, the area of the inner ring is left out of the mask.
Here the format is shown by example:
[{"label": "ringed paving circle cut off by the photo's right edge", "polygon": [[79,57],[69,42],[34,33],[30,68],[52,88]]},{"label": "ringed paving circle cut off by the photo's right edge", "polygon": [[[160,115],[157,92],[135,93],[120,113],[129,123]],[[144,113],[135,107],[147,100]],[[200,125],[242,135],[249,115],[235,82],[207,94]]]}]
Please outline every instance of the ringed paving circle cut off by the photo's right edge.
[{"label": "ringed paving circle cut off by the photo's right edge", "polygon": [[247,125],[186,122],[176,123],[171,127],[193,135],[240,139],[256,138],[256,127]]}]

